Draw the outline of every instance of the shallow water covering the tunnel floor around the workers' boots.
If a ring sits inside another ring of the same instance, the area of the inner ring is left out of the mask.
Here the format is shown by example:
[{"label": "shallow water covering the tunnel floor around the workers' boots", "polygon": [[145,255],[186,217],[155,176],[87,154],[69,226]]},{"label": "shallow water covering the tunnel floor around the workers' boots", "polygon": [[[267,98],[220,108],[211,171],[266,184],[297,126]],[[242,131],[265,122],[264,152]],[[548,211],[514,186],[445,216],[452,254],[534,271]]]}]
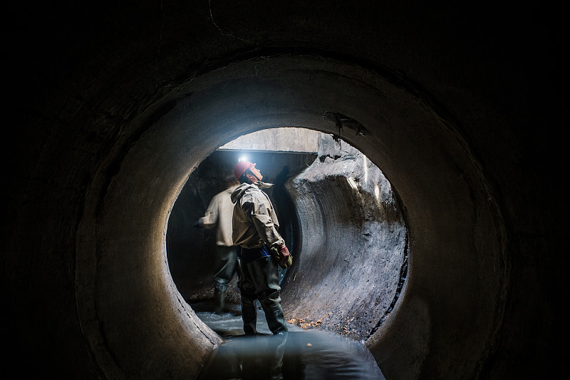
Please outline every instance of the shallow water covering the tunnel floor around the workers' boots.
[{"label": "shallow water covering the tunnel floor around the workers' boots", "polygon": [[202,322],[224,343],[214,349],[197,379],[385,379],[366,346],[332,332],[288,324],[289,332],[272,335],[261,309],[256,337],[246,337],[241,309],[227,305],[224,314],[212,304],[190,304]]}]

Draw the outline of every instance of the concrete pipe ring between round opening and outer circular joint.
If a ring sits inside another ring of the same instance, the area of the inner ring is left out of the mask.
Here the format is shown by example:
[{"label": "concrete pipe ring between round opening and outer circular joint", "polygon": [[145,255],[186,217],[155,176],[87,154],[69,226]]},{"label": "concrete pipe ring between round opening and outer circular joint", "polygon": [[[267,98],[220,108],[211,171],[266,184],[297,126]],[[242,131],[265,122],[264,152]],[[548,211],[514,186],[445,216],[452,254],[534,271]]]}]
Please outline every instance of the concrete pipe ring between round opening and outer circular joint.
[{"label": "concrete pipe ring between round opening and outer circular joint", "polygon": [[[366,133],[343,135],[398,195],[411,260],[405,294],[366,342],[390,378],[447,368],[469,377],[489,354],[504,308],[504,232],[484,173],[455,125],[420,92],[331,58],[229,63],[165,90],[131,121],[88,192],[77,239],[79,318],[108,377],[195,376],[222,343],[177,292],[166,260],[176,197],[214,149],[262,128],[338,133],[338,111]],[[465,344],[469,342],[469,344]]]}]

